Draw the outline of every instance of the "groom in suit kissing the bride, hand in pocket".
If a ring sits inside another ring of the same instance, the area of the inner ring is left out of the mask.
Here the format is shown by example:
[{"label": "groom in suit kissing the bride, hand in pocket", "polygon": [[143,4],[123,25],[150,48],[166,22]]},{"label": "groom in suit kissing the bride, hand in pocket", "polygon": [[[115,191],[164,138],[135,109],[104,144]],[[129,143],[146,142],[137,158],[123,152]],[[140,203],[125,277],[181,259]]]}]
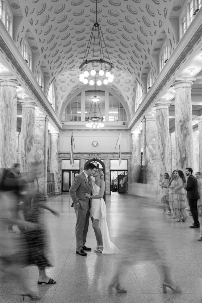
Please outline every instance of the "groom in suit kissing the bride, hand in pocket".
[{"label": "groom in suit kissing the bride, hand in pocket", "polygon": [[80,256],[87,255],[84,250],[91,250],[90,247],[85,246],[90,217],[90,199],[85,197],[84,193],[91,193],[91,176],[94,175],[95,169],[96,166],[94,164],[86,164],[84,171],[75,176],[69,189],[69,193],[73,201],[71,207],[74,206],[76,213],[76,254]]}]

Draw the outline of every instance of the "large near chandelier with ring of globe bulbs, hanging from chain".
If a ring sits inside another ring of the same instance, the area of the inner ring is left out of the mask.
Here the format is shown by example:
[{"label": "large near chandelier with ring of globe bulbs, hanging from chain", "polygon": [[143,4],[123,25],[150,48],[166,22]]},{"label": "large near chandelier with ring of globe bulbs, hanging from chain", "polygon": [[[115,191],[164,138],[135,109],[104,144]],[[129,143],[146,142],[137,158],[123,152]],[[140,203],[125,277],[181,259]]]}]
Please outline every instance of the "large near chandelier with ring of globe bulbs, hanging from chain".
[{"label": "large near chandelier with ring of globe bulbs, hanging from chain", "polygon": [[[105,47],[109,61],[104,58],[103,46]],[[96,50],[95,48],[98,49]],[[91,58],[90,49],[92,50]],[[96,22],[91,31],[88,46],[84,55],[84,61],[79,66],[79,69],[82,71],[82,73],[79,75],[79,80],[84,84],[87,84],[89,81],[90,85],[94,85],[95,82],[98,86],[102,85],[102,83],[107,85],[114,79],[114,76],[110,73],[113,67],[114,65],[110,61],[107,47],[104,42],[101,26],[97,22],[96,0]]]}]

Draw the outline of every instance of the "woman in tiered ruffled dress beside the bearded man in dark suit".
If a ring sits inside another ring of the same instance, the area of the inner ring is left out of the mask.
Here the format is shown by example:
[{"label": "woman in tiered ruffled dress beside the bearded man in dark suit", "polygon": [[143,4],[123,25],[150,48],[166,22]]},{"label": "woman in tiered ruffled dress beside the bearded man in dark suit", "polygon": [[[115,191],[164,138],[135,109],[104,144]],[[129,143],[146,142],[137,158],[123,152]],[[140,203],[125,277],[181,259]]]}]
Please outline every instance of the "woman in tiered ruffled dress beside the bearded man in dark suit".
[{"label": "woman in tiered ruffled dress beside the bearded man in dark suit", "polygon": [[177,182],[176,186],[174,188],[175,192],[175,214],[179,216],[179,219],[176,222],[184,222],[186,218],[188,217],[188,213],[186,210],[187,205],[187,199],[184,191],[184,184],[186,183],[186,179],[184,177],[184,174],[181,170],[177,171]]}]

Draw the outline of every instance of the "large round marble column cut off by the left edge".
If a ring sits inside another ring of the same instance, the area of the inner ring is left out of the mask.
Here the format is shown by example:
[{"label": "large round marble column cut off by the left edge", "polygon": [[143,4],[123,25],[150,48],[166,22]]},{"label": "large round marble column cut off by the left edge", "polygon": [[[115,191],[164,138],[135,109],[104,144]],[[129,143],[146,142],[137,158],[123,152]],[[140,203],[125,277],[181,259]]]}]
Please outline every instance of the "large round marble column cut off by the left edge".
[{"label": "large round marble column cut off by the left edge", "polygon": [[17,85],[0,80],[0,168],[11,168],[16,159]]}]

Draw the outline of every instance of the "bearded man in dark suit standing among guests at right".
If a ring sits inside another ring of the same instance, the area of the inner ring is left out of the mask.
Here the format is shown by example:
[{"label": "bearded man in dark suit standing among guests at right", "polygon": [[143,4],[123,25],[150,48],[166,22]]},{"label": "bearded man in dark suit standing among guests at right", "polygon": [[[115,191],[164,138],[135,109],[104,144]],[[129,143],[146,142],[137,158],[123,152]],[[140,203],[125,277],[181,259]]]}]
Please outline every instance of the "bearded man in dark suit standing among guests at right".
[{"label": "bearded man in dark suit standing among guests at right", "polygon": [[199,228],[200,223],[198,221],[197,201],[200,198],[200,196],[198,193],[197,178],[195,178],[192,175],[192,173],[193,173],[193,169],[187,167],[186,175],[188,176],[188,179],[187,179],[187,187],[185,189],[187,191],[187,198],[189,200],[190,211],[194,219],[194,225],[190,226],[190,228]]}]

